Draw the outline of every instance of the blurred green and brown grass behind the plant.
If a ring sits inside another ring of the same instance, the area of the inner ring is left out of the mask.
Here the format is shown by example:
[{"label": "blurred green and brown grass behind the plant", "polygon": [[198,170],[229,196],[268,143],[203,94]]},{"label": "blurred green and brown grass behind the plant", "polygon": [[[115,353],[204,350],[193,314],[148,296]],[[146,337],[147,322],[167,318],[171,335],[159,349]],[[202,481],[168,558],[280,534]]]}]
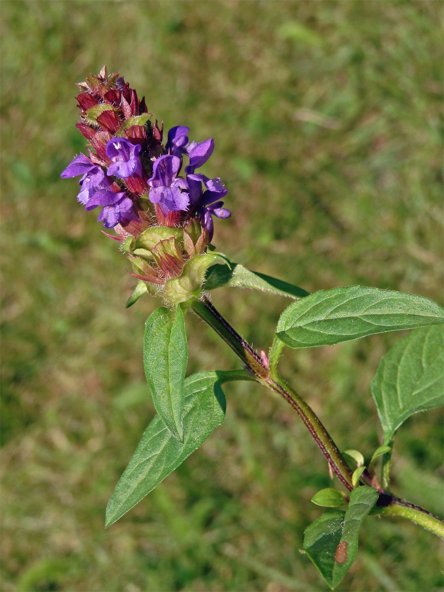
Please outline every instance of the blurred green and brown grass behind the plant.
[{"label": "blurred green and brown grass behind the plant", "polygon": [[[74,82],[107,63],[168,129],[214,137],[231,260],[310,291],[363,284],[442,300],[442,3],[3,0],[1,590],[326,590],[298,549],[330,483],[304,427],[226,386],[205,445],[117,524],[104,509],[154,410],[134,279],[60,171],[84,140]],[[220,289],[253,345],[284,298]],[[188,373],[237,367],[189,314]],[[285,351],[342,449],[379,443],[370,382],[400,334]],[[442,414],[395,443],[396,493],[442,514]],[[368,519],[339,590],[440,590],[430,533]]]}]

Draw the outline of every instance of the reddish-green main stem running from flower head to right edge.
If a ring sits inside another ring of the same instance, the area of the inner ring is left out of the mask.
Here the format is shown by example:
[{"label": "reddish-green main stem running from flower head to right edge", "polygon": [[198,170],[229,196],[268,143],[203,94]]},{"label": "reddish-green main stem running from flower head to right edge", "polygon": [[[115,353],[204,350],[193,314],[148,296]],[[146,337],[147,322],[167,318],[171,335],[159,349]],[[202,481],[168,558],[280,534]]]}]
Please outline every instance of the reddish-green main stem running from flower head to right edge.
[{"label": "reddish-green main stem running from flower head to right edge", "polygon": [[[321,452],[329,462],[330,469],[337,475],[339,480],[345,487],[351,491],[353,490],[352,471],[345,459],[339,452],[336,444],[333,442],[329,433],[314,413],[313,409],[305,403],[304,399],[300,397],[283,378],[279,375],[276,366],[281,355],[284,344],[277,337],[275,338],[268,359],[264,352],[260,356],[255,350],[237,333],[233,327],[221,316],[220,313],[210,303],[208,298],[203,300],[195,300],[191,305],[192,310],[200,316],[212,329],[230,346],[242,360],[243,365],[247,371],[252,375],[253,379],[270,388],[272,391],[281,395],[287,403],[297,412],[298,416],[303,420],[305,427],[307,427],[311,436],[320,448]],[[384,455],[385,456],[385,455]],[[390,456],[386,460],[386,466],[390,464]],[[386,471],[388,472],[388,466]],[[362,475],[363,480],[374,487],[379,492],[379,500],[377,507],[372,513],[384,516],[402,516],[411,520],[411,522],[422,526],[426,530],[430,530],[435,535],[444,538],[444,520],[434,516],[427,510],[416,506],[406,500],[400,500],[397,497],[391,496],[384,487],[387,487],[385,480],[387,480],[387,472],[382,472],[382,487],[375,476],[365,471]]]}]

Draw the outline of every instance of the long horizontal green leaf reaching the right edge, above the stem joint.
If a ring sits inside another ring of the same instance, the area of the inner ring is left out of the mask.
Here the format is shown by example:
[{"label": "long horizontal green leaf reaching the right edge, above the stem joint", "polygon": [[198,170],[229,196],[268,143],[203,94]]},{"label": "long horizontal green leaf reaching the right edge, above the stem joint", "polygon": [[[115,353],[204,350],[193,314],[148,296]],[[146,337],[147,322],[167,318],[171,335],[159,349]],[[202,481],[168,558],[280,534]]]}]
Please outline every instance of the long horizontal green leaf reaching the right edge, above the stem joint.
[{"label": "long horizontal green leaf reaching the right edge, above the stem joint", "polygon": [[290,304],[276,334],[290,348],[358,339],[444,321],[444,309],[428,298],[379,288],[333,288]]}]

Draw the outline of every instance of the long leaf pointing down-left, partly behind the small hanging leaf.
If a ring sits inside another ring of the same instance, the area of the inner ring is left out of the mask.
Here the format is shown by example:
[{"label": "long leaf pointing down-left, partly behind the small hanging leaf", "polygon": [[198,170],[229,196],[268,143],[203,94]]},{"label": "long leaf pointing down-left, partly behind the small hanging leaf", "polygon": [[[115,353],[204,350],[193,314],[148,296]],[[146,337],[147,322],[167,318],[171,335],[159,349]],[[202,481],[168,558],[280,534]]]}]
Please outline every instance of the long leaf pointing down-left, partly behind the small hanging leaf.
[{"label": "long leaf pointing down-left, partly behind the small hanging leaf", "polygon": [[175,439],[156,415],[108,502],[105,526],[134,507],[187,456],[200,448],[225,417],[223,382],[251,380],[245,370],[199,372],[185,380],[184,442]]}]

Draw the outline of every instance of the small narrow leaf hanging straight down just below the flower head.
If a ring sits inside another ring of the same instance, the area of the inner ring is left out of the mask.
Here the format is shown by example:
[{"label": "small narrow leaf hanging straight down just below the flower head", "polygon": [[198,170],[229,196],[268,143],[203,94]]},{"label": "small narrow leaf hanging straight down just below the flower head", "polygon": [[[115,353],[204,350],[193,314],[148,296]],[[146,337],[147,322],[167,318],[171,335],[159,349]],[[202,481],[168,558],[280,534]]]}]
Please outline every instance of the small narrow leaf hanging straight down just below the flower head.
[{"label": "small narrow leaf hanging straight down just below the flower head", "polygon": [[184,380],[188,346],[181,308],[157,308],[147,318],[143,365],[157,413],[172,435],[184,441]]}]

